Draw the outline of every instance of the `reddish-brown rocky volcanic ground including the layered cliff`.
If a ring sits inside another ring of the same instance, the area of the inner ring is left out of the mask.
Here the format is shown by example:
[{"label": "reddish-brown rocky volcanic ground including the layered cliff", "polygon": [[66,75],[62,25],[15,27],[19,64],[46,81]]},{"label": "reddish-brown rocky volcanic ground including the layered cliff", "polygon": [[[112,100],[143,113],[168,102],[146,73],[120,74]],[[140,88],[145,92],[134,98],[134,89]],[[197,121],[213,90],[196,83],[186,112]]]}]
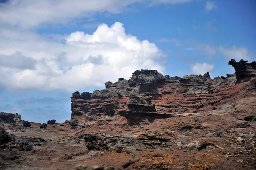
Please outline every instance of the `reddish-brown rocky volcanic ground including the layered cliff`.
[{"label": "reddish-brown rocky volcanic ground including the layered cliff", "polygon": [[230,64],[227,78],[138,71],[105,91],[76,92],[64,123],[1,112],[0,169],[254,170],[256,64]]}]

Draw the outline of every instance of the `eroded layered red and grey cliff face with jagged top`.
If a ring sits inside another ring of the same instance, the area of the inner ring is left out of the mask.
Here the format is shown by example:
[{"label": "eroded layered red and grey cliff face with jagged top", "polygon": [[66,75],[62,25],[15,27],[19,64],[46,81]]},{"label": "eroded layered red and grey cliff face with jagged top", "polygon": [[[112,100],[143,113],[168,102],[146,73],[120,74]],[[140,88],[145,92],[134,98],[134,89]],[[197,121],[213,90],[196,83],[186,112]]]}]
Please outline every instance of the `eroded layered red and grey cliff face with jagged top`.
[{"label": "eroded layered red and grey cliff face with jagged top", "polygon": [[152,122],[177,114],[219,109],[234,103],[233,98],[243,88],[255,88],[256,62],[232,59],[229,64],[236,73],[214,79],[209,72],[170,78],[157,70],[137,70],[130,80],[107,82],[101,91],[74,92],[71,119],[93,121],[122,116],[132,125],[145,119]]}]

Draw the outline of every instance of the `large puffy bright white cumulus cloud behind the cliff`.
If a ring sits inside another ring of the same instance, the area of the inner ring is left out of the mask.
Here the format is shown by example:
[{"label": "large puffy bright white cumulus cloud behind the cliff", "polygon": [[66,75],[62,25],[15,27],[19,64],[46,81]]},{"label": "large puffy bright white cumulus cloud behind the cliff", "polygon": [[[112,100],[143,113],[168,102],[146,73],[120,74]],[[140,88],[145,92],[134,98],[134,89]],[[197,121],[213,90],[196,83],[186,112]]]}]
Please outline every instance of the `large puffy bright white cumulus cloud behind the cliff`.
[{"label": "large puffy bright white cumulus cloud behind the cliff", "polygon": [[101,87],[120,77],[129,79],[138,69],[165,69],[159,63],[165,57],[163,52],[148,40],[127,35],[119,22],[111,27],[102,24],[92,35],[77,31],[58,37],[65,43],[23,29],[0,29],[0,55],[19,51],[23,58],[36,61],[35,69],[0,66],[0,86],[10,89],[75,91]]}]

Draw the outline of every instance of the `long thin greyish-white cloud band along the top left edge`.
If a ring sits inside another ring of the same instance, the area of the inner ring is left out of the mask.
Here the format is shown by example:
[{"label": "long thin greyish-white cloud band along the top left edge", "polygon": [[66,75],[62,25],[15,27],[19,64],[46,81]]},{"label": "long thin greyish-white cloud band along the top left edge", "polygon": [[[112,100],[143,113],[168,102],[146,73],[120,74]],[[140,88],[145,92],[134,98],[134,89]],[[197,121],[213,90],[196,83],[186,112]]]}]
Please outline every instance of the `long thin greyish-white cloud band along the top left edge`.
[{"label": "long thin greyish-white cloud band along the top left edge", "polygon": [[94,14],[118,14],[130,10],[134,3],[186,3],[191,0],[9,0],[0,6],[2,24],[35,28],[39,25],[66,24],[72,19]]}]

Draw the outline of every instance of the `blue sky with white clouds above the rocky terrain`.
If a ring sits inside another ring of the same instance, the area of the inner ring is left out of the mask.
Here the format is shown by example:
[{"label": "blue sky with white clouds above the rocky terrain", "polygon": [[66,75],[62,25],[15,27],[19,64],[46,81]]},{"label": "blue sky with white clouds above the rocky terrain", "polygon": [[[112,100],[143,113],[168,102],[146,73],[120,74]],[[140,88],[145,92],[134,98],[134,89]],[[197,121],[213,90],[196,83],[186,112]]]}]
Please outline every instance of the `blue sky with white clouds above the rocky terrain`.
[{"label": "blue sky with white clouds above the rocky terrain", "polygon": [[70,120],[72,92],[140,69],[234,73],[256,61],[255,0],[0,0],[0,112]]}]

